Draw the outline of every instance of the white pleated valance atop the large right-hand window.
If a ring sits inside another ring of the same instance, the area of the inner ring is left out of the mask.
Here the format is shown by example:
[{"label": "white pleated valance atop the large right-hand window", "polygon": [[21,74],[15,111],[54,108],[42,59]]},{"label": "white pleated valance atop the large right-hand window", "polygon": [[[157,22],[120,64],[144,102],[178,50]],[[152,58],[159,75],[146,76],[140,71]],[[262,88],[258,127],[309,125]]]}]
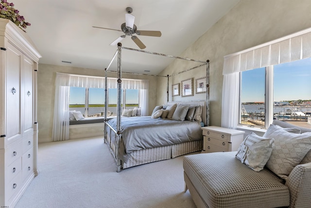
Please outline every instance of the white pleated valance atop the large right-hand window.
[{"label": "white pleated valance atop the large right-hand window", "polygon": [[311,57],[311,28],[224,57],[223,74]]}]

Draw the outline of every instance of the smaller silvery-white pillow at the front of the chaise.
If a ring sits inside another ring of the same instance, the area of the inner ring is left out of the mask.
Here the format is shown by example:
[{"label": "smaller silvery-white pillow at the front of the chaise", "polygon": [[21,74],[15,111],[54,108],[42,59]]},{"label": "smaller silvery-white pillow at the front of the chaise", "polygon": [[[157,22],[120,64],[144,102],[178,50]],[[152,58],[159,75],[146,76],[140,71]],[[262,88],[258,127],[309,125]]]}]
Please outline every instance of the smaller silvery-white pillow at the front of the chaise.
[{"label": "smaller silvery-white pillow at the front of the chaise", "polygon": [[259,137],[252,132],[243,140],[236,157],[254,171],[259,172],[272,153],[273,143],[274,139]]}]

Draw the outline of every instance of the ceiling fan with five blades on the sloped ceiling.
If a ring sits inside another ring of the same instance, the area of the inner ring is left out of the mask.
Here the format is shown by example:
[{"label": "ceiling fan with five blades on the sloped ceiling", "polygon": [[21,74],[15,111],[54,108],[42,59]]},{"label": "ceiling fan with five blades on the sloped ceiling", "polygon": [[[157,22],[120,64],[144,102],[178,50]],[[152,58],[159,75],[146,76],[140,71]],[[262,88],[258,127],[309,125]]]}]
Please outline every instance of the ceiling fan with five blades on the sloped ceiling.
[{"label": "ceiling fan with five blades on the sloped ceiling", "polygon": [[115,30],[115,31],[123,32],[125,34],[125,35],[121,35],[120,37],[118,37],[115,41],[110,43],[109,46],[116,46],[118,42],[120,42],[124,37],[126,37],[126,35],[128,35],[128,36],[131,36],[131,39],[136,43],[136,45],[140,49],[145,49],[146,46],[138,39],[136,35],[161,37],[162,34],[160,31],[137,30],[137,27],[134,24],[135,16],[131,15],[131,13],[133,12],[133,9],[131,7],[127,7],[126,12],[127,14],[125,14],[125,22],[121,24],[121,30],[93,26],[94,28]]}]

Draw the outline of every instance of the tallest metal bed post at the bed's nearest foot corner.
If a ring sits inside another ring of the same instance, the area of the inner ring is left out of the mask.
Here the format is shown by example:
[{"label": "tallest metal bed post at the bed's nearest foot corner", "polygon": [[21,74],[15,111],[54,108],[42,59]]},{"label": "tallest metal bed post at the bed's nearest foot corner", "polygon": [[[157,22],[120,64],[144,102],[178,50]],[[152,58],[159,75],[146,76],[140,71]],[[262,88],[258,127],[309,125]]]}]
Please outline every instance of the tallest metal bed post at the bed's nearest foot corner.
[{"label": "tallest metal bed post at the bed's nearest foot corner", "polygon": [[121,140],[121,89],[122,89],[122,77],[121,77],[121,48],[122,44],[118,43],[118,101],[117,101],[117,141],[116,141],[116,161],[117,161],[117,172],[121,171],[121,159],[119,158],[119,146]]}]

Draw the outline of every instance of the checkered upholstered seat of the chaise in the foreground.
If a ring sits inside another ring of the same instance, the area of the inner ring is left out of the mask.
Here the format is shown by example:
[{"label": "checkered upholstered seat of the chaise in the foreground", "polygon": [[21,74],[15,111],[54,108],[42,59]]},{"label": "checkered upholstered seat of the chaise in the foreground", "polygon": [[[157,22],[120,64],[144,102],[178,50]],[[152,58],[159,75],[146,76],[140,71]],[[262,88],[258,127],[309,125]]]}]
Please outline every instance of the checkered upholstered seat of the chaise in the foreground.
[{"label": "checkered upholstered seat of the chaise in the foreground", "polygon": [[267,169],[253,171],[235,154],[224,152],[184,157],[184,172],[209,208],[289,206],[290,192],[282,179]]}]

